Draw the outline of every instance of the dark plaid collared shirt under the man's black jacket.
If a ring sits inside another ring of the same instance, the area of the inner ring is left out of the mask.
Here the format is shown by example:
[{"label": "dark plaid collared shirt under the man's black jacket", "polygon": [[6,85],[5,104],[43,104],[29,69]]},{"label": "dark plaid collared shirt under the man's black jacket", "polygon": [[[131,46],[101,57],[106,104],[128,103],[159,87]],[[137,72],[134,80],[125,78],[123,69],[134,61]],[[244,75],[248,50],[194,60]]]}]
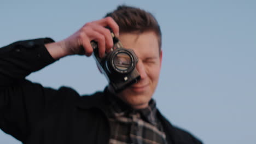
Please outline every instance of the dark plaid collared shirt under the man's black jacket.
[{"label": "dark plaid collared shirt under the man's black jacket", "polygon": [[152,99],[146,109],[135,110],[110,95],[107,115],[110,123],[110,144],[166,144],[161,123],[156,118],[156,104]]}]

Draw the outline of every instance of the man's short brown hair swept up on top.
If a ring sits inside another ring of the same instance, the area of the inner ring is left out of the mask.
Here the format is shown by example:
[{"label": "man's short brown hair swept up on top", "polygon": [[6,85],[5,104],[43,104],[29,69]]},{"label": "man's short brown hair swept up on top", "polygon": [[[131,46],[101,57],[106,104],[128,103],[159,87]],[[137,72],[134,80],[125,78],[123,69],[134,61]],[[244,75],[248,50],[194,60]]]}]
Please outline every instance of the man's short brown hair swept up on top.
[{"label": "man's short brown hair swept up on top", "polygon": [[116,10],[108,13],[105,17],[112,17],[119,26],[120,33],[153,31],[158,36],[159,52],[161,50],[162,34],[158,21],[149,12],[120,5]]}]

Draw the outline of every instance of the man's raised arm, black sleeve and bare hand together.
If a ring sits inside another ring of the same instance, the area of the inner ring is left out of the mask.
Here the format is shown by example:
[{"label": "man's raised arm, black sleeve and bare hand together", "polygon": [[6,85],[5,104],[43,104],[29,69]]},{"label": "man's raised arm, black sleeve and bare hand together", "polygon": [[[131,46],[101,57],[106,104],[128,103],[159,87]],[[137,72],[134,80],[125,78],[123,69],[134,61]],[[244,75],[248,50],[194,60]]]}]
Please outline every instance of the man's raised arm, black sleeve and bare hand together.
[{"label": "man's raised arm, black sleeve and bare hand together", "polygon": [[26,141],[38,121],[48,115],[45,110],[65,98],[57,94],[60,90],[44,88],[25,77],[67,55],[90,56],[91,40],[98,42],[99,53],[103,55],[113,46],[107,26],[118,35],[118,25],[107,17],[86,23],[62,41],[24,40],[0,48],[0,129]]}]

